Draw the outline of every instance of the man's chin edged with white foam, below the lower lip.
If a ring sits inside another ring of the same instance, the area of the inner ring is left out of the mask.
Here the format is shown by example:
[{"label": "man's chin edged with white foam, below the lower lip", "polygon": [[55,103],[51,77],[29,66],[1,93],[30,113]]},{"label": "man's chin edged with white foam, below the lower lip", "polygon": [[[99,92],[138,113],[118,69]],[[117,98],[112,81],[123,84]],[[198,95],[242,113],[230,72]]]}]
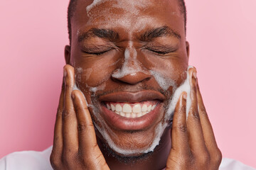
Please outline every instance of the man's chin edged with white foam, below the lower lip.
[{"label": "man's chin edged with white foam, below the lower lip", "polygon": [[[163,109],[161,103],[156,107]],[[95,115],[101,114],[98,113]],[[161,136],[164,130],[166,130],[166,127],[168,127],[168,123],[160,119],[164,118],[164,112],[161,112],[159,115],[161,116],[155,119],[158,121],[149,125],[149,127],[142,127],[142,129],[139,130],[127,130],[126,128],[120,130],[116,127],[113,128],[113,125],[110,126],[106,121],[95,121],[97,136],[110,154],[114,154],[118,157],[145,157],[153,152],[156,146],[159,145]],[[98,123],[100,123],[100,125]]]}]

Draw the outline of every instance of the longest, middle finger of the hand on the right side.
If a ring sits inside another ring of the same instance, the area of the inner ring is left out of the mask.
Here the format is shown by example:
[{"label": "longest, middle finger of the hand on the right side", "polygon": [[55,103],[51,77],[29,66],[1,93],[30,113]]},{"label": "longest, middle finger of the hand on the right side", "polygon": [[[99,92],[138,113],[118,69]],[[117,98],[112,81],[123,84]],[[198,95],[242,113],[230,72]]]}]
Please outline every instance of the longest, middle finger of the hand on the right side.
[{"label": "longest, middle finger of the hand on the right side", "polygon": [[196,91],[196,69],[189,69],[191,84],[191,108],[188,112],[188,137],[191,150],[197,157],[204,157],[208,154],[205,145],[200,115],[198,113],[198,101]]}]

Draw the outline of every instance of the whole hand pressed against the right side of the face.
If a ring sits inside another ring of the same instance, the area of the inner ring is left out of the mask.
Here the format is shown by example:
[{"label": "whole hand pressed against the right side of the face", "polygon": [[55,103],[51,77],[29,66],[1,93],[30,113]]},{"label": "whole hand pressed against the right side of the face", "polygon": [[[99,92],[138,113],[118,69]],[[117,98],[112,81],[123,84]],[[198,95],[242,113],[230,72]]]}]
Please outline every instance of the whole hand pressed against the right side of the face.
[{"label": "whole hand pressed against the right side of the face", "polygon": [[186,120],[186,93],[183,92],[174,111],[171,152],[166,169],[217,170],[222,155],[203,105],[196,69],[189,69],[188,72],[191,76],[191,108]]}]

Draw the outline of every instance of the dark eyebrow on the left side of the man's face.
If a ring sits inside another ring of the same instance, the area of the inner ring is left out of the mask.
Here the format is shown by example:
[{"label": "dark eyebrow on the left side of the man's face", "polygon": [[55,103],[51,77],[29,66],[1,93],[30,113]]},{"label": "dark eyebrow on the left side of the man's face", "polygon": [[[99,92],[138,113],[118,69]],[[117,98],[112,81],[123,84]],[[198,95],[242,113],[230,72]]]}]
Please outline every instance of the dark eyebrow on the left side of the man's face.
[{"label": "dark eyebrow on the left side of the man's face", "polygon": [[78,35],[78,42],[82,40],[86,40],[89,38],[98,37],[98,38],[105,38],[108,40],[117,40],[119,39],[119,35],[116,31],[104,28],[91,28],[85,33]]}]

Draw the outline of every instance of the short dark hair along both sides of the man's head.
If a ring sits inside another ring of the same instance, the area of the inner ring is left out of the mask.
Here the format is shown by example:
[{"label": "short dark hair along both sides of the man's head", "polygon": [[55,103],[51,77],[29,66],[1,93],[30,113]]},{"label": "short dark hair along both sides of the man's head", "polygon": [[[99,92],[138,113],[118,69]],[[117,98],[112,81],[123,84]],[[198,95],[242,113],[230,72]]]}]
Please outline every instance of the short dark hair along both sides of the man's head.
[{"label": "short dark hair along both sides of the man's head", "polygon": [[[183,13],[184,16],[184,26],[185,26],[185,33],[186,33],[186,21],[187,21],[187,12],[186,12],[186,5],[184,0],[178,0],[178,3],[181,8],[181,13]],[[78,0],[70,0],[70,3],[68,5],[68,38],[70,40],[70,45],[71,45],[71,18],[74,14],[75,11],[75,6],[78,4]]]}]

